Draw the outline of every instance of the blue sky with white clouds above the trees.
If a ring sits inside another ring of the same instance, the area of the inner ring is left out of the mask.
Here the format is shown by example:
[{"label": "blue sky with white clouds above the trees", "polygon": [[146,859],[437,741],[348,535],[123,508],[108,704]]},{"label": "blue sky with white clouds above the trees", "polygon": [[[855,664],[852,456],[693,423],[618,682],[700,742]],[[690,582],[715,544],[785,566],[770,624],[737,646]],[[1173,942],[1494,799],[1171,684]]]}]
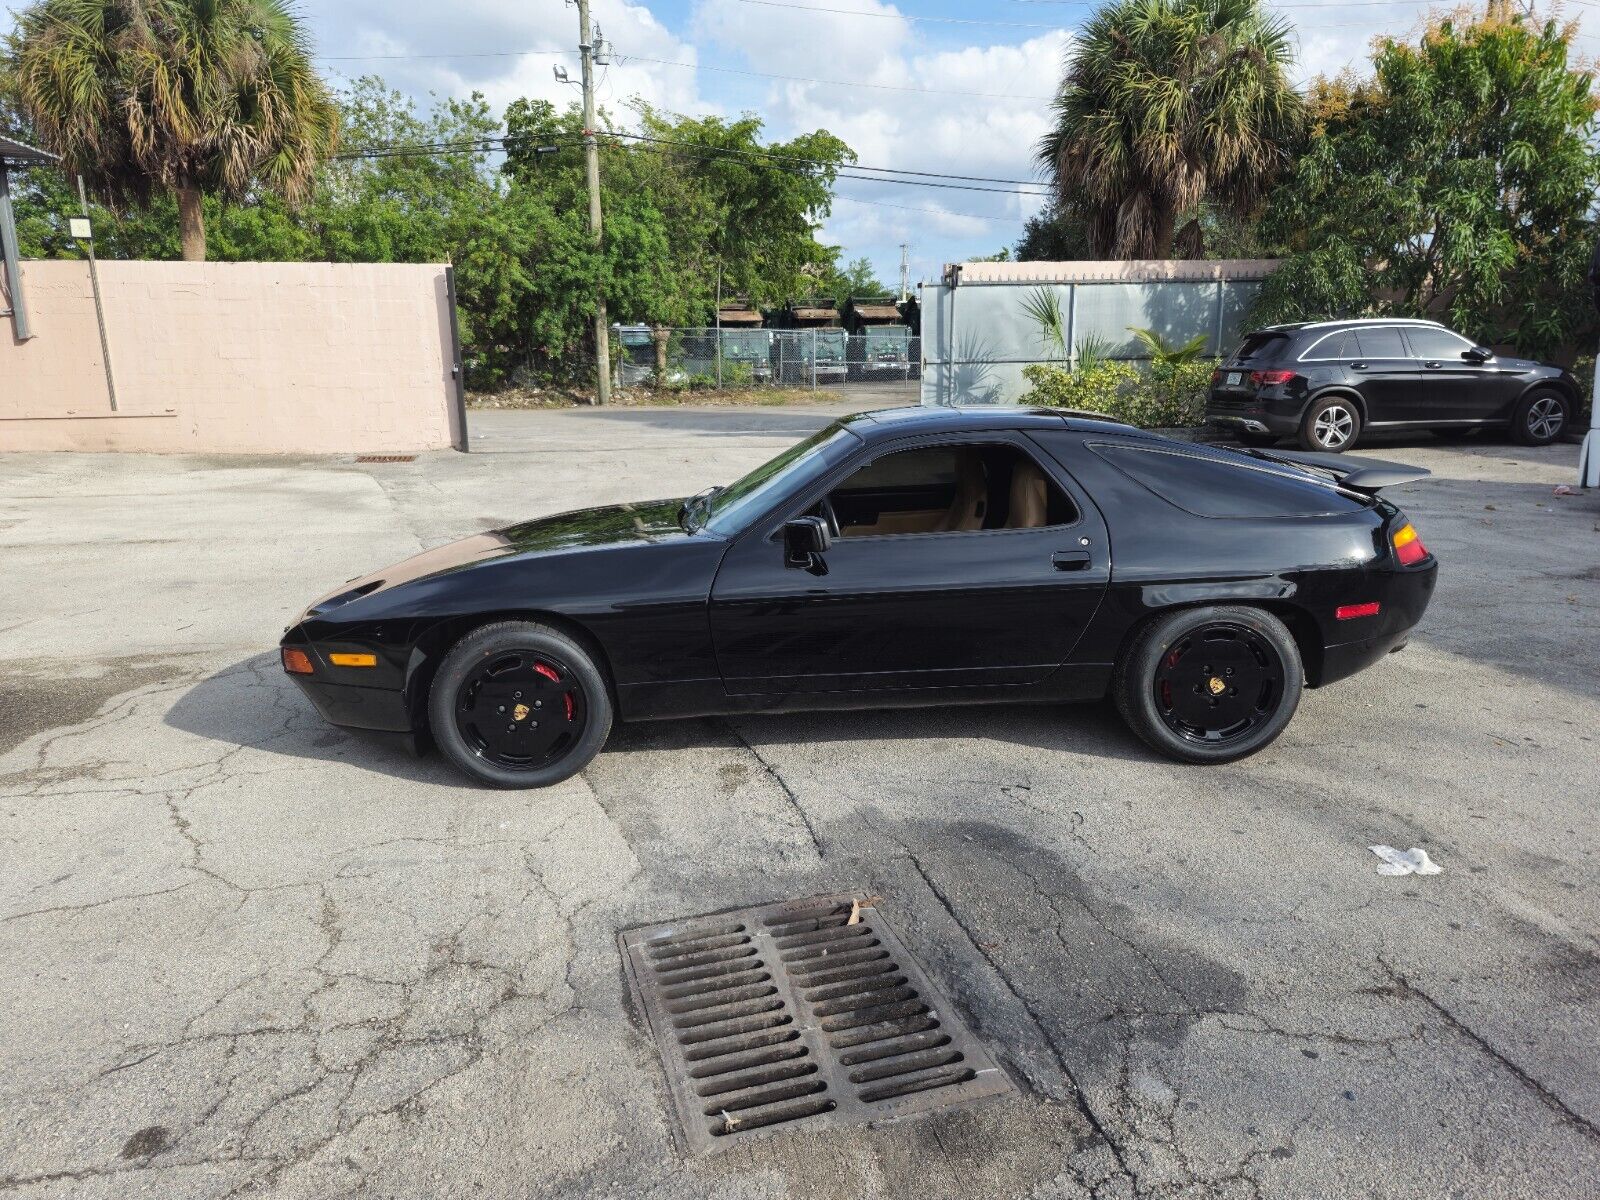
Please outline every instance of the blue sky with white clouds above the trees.
[{"label": "blue sky with white clouds above the trees", "polygon": [[[16,0],[0,0],[0,29]],[[1093,5],[1075,0],[592,0],[616,59],[603,104],[630,96],[690,114],[755,112],[774,138],[827,128],[866,166],[997,179],[1035,178],[1061,59]],[[1298,78],[1360,67],[1374,35],[1405,35],[1429,11],[1418,0],[1277,5],[1298,29]],[[1547,11],[1539,5],[1539,11]],[[557,102],[576,88],[576,10],[565,0],[302,0],[299,10],[330,75],[382,75],[426,102],[482,91],[496,107],[517,96]],[[1563,14],[1594,29],[1600,2]],[[568,51],[568,53],[562,53]],[[742,74],[750,72],[750,74]],[[787,77],[787,78],[778,78]],[[888,283],[910,245],[912,280],[944,262],[1013,245],[1040,200],[998,192],[850,181],[822,237],[867,256]],[[1037,190],[1037,186],[1035,186]]]}]

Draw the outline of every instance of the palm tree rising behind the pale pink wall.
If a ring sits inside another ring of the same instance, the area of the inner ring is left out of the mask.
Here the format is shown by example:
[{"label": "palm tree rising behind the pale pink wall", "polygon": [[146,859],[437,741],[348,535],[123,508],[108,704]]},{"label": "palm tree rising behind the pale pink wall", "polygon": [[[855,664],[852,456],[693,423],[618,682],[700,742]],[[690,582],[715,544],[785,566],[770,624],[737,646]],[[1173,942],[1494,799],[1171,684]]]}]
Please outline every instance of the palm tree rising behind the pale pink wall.
[{"label": "palm tree rising behind the pale pink wall", "polygon": [[200,197],[310,190],[333,96],[283,0],[38,0],[0,74],[40,141],[114,203],[176,192],[184,258]]}]

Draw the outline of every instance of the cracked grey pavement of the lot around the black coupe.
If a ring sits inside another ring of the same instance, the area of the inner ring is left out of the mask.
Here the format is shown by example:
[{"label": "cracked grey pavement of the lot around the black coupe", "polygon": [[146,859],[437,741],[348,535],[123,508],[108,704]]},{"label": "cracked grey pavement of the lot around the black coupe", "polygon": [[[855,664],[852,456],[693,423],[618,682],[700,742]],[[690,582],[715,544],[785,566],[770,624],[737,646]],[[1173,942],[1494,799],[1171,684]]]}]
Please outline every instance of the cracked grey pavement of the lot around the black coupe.
[{"label": "cracked grey pavement of the lot around the black coupe", "polygon": [[[544,792],[323,725],[307,600],[728,482],[824,410],[474,414],[414,462],[0,456],[0,1195],[1576,1197],[1600,1179],[1600,496],[1366,448],[1411,646],[1230,766],[1109,707],[621,726]],[[1386,878],[1370,845],[1443,874]],[[618,931],[880,912],[1018,1085],[683,1158]]]}]

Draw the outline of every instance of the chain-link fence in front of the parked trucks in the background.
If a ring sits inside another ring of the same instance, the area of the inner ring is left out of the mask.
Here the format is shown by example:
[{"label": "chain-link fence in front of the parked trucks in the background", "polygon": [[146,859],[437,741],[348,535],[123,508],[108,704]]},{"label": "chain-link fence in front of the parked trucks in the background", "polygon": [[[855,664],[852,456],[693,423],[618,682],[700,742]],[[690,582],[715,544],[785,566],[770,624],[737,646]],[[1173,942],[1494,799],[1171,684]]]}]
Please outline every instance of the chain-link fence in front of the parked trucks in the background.
[{"label": "chain-link fence in front of the parked trucks in the background", "polygon": [[621,328],[622,387],[728,390],[890,386],[915,392],[922,342],[904,325],[845,330]]}]

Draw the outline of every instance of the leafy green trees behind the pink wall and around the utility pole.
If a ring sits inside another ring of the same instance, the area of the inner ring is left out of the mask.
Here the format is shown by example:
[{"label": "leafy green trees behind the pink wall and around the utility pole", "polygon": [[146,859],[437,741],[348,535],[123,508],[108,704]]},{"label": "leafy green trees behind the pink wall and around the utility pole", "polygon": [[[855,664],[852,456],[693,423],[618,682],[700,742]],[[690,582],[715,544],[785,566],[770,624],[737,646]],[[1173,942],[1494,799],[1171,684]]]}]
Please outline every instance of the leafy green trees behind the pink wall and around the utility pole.
[{"label": "leafy green trees behind the pink wall and around the utility pole", "polygon": [[[506,112],[504,163],[472,149],[502,131],[477,94],[422,114],[381,80],[363,78],[339,96],[339,109],[346,150],[382,154],[325,162],[298,210],[270,192],[240,203],[206,197],[210,254],[451,262],[472,387],[514,374],[563,381],[592,370],[600,288],[611,320],[675,326],[710,322],[718,269],[723,294],[765,306],[810,294],[818,270],[858,293],[885,291],[864,259],[837,270],[837,250],[816,240],[834,176],[853,160],[832,134],[763,146],[754,118],[728,123],[642,109],[640,122],[656,141],[635,142],[603,117],[605,243],[597,250],[576,106],[515,101]],[[37,141],[3,106],[0,131]],[[555,152],[536,154],[541,146]],[[80,256],[67,235],[67,216],[78,211],[67,179],[35,170],[18,173],[14,184],[22,253]],[[91,218],[102,258],[179,253],[171,195],[126,211],[91,202]]]}]

